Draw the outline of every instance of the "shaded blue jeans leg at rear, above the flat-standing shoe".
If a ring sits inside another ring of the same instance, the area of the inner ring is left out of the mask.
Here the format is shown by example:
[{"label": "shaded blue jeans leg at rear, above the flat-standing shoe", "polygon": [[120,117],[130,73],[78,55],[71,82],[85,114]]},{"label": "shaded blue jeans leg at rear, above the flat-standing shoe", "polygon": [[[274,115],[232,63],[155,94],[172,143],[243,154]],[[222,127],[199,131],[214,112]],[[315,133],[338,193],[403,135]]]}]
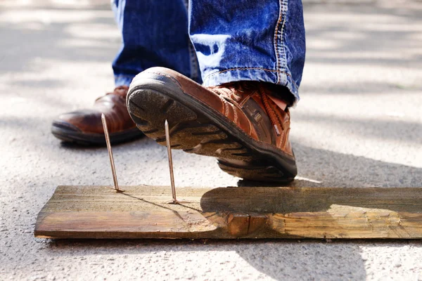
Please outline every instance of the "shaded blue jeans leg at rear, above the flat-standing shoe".
[{"label": "shaded blue jeans leg at rear, above the flat-standing shoe", "polygon": [[168,67],[200,82],[188,37],[187,0],[112,0],[122,46],[113,61],[115,85],[129,85],[149,67]]}]

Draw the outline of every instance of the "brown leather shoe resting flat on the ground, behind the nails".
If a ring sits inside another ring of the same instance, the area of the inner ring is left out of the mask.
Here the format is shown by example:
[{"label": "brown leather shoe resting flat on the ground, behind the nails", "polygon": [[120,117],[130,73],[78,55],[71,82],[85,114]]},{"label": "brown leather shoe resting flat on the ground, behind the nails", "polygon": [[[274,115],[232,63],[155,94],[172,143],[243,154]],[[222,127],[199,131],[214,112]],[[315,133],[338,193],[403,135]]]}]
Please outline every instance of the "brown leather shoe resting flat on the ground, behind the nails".
[{"label": "brown leather shoe resting flat on the ground, behind the nails", "polygon": [[105,145],[101,122],[101,113],[104,113],[111,143],[122,143],[143,136],[127,112],[125,100],[128,89],[127,86],[120,86],[112,93],[97,98],[92,109],[60,115],[53,121],[51,133],[66,142]]}]

